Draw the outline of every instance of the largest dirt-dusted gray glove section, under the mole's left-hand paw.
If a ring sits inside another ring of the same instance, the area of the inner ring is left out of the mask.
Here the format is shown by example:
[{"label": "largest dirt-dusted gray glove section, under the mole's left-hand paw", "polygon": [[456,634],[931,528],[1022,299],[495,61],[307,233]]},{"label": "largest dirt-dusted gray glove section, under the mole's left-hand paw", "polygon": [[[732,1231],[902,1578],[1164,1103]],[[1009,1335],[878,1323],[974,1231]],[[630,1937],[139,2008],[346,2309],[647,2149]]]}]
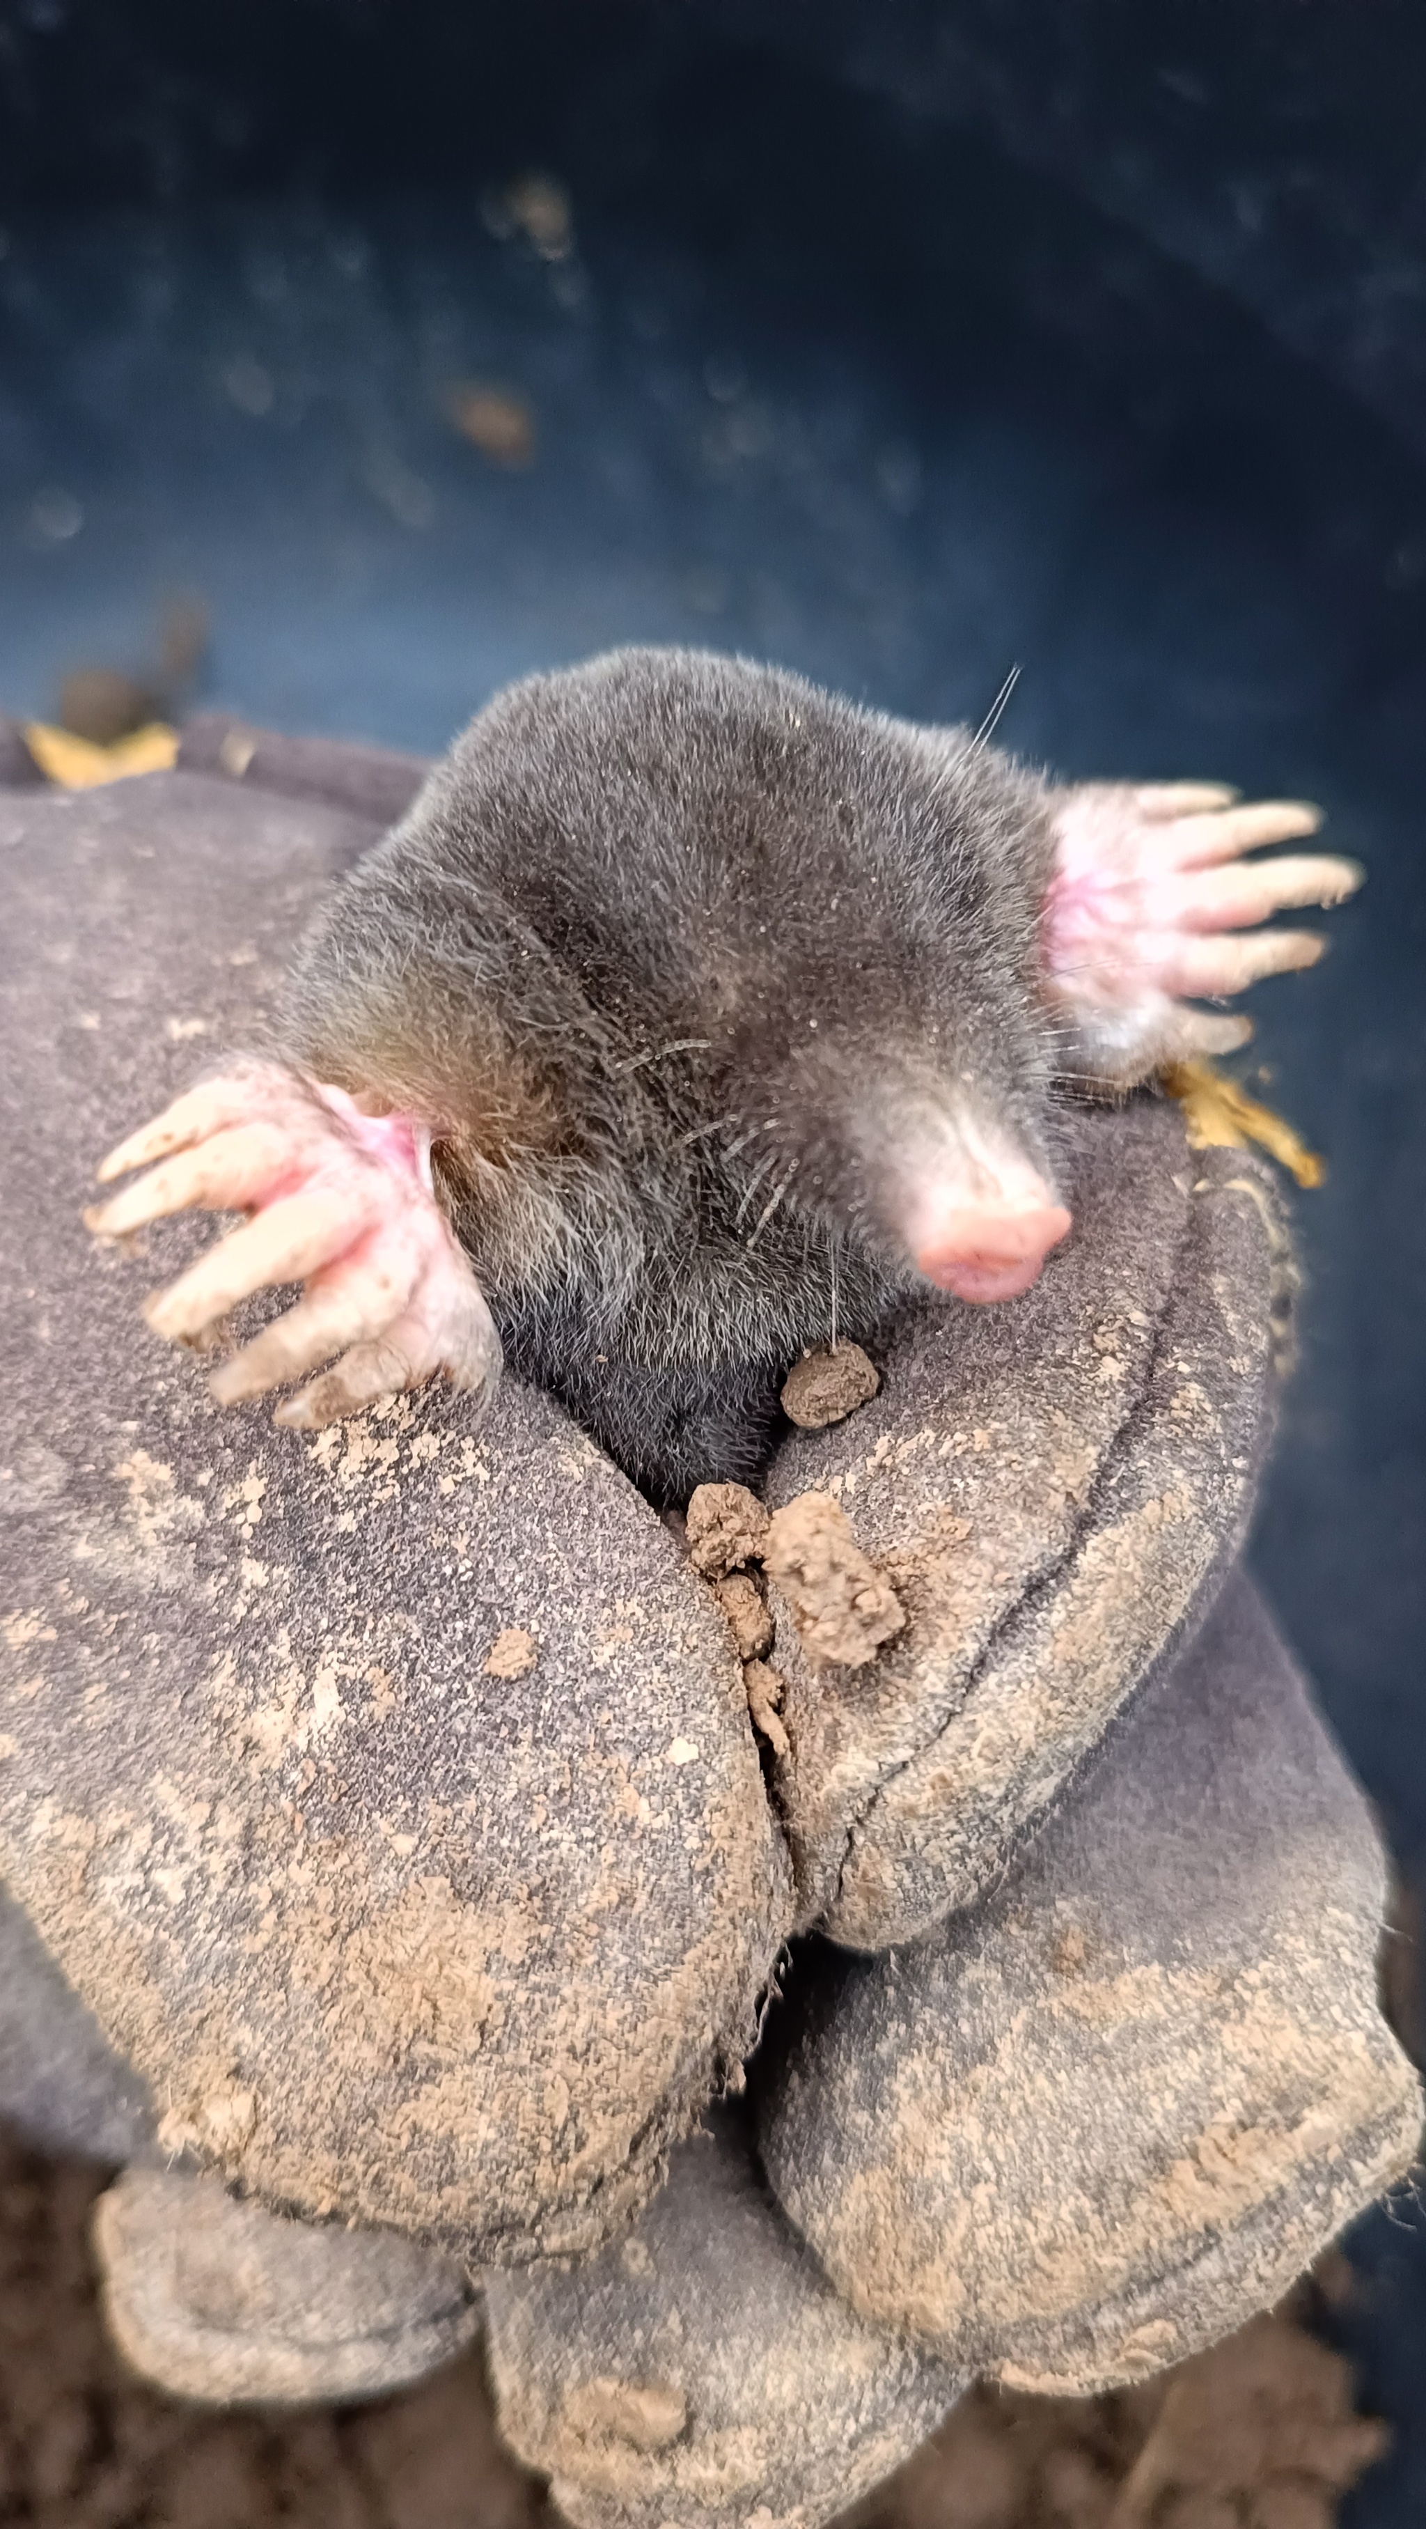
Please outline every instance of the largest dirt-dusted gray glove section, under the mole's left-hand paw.
[{"label": "largest dirt-dusted gray glove section, under the mole's left-hand paw", "polygon": [[544,1396],[220,1414],[78,1222],[372,835],[185,771],[0,804],[0,1877],[164,2150],[485,2263],[650,2195],[791,1877],[716,1601]]}]

